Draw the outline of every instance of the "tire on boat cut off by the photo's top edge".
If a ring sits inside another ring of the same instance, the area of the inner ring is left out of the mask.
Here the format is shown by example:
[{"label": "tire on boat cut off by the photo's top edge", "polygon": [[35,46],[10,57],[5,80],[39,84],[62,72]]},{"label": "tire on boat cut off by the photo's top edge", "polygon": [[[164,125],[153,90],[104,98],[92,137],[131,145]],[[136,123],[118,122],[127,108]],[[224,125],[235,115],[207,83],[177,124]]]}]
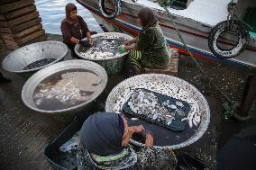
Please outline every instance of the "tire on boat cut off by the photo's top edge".
[{"label": "tire on boat cut off by the photo's top edge", "polygon": [[115,6],[114,6],[114,13],[109,13],[106,11],[105,8],[105,0],[99,0],[98,6],[100,9],[100,13],[105,16],[105,18],[111,18],[114,19],[117,16],[119,16],[122,13],[122,2],[121,0],[114,0]]}]

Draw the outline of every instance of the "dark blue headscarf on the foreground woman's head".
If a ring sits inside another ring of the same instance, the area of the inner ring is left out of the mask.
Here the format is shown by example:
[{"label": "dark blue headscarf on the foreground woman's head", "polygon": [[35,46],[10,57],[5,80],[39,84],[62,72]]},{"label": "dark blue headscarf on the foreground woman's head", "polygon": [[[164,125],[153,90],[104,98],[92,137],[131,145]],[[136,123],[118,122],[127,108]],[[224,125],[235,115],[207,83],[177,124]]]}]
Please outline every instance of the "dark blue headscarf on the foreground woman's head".
[{"label": "dark blue headscarf on the foreground woman's head", "polygon": [[123,150],[123,119],[114,112],[96,112],[84,122],[79,136],[90,153],[99,156],[118,154]]}]

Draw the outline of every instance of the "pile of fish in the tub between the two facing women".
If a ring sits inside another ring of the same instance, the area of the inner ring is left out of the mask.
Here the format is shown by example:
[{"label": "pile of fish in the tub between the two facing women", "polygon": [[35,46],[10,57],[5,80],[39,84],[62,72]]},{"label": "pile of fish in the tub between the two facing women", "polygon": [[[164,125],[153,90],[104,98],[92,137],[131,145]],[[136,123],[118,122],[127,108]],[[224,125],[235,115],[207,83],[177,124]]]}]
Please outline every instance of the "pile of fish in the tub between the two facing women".
[{"label": "pile of fish in the tub between the two facing women", "polygon": [[91,48],[79,52],[81,57],[88,59],[104,59],[122,56],[119,49],[125,41],[124,38],[118,36],[101,36],[96,37],[94,40],[94,45]]}]

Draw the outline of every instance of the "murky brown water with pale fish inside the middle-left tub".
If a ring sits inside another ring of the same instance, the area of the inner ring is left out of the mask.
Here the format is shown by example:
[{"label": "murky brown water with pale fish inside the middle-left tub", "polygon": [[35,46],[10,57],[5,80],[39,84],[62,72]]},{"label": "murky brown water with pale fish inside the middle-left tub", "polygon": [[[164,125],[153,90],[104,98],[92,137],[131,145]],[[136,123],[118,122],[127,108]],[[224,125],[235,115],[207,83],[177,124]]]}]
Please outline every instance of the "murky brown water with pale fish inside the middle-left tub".
[{"label": "murky brown water with pale fish inside the middle-left tub", "polygon": [[87,69],[55,73],[36,87],[33,100],[41,110],[57,111],[85,103],[101,90],[101,77]]}]

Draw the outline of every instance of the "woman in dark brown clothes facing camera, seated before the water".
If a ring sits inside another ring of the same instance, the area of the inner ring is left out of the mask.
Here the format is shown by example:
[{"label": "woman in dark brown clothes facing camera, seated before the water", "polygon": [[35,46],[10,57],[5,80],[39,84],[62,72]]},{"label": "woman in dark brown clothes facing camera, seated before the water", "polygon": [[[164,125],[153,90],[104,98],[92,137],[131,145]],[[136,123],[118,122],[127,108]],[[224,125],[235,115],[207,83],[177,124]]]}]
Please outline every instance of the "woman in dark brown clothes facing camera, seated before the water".
[{"label": "woman in dark brown clothes facing camera, seated before the water", "polygon": [[[75,4],[69,3],[66,5],[65,9],[66,18],[61,22],[60,29],[63,36],[63,42],[69,47],[69,49],[71,49],[72,55],[75,55],[75,45],[78,43],[83,46],[93,44],[94,40],[91,35],[95,34],[96,31],[88,30],[87,23],[78,15],[78,9]],[[82,40],[86,37],[89,43]]]}]

